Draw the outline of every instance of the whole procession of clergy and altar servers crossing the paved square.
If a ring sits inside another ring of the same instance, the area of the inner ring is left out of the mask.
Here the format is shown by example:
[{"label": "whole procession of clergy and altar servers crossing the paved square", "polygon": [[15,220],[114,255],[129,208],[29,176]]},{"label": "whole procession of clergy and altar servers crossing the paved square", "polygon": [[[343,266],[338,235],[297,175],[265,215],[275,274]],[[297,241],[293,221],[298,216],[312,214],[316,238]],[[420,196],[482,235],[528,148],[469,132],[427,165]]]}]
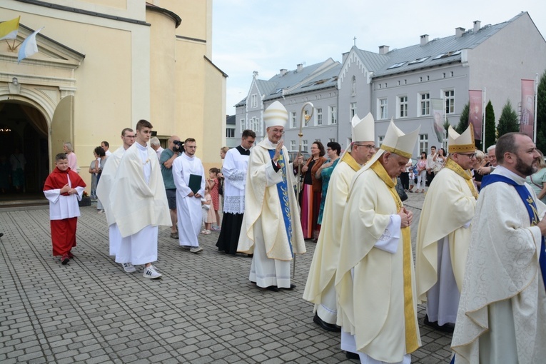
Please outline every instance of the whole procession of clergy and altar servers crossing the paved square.
[{"label": "whole procession of clergy and altar servers crossing the paved square", "polygon": [[[308,320],[337,338],[348,360],[411,363],[423,344],[422,325],[453,333],[452,363],[544,363],[546,205],[526,183],[543,162],[531,138],[501,136],[492,151],[496,166],[478,190],[471,172],[477,153],[472,125],[461,134],[449,126],[448,156],[430,182],[412,243],[414,213],[397,184],[411,163],[419,128],[405,133],[391,120],[375,146],[372,114],[355,115],[346,150],[336,163],[323,161],[333,168],[319,195],[323,210],[315,243],[302,228],[313,216],[301,213],[304,176],[297,171],[305,161],[301,154],[290,161],[284,146],[288,112],[275,101],[263,122],[263,140],[255,145],[256,133],[243,131],[241,144],[226,153],[223,219],[216,222],[218,251],[248,257],[248,271],[238,274],[253,289],[285,291],[298,300],[303,292],[313,304]],[[212,185],[196,156],[196,139],[171,136],[168,148],[156,154],[149,143],[152,128],[141,120],[136,131],[121,131],[122,146],[107,159],[96,195],[105,211],[108,254],[120,273],[141,266],[143,278],[165,281],[156,267],[160,226],[171,229],[181,254],[209,254],[200,237]],[[322,156],[316,151],[310,158],[309,171]],[[74,258],[84,188],[59,153],[44,194],[53,255],[61,256],[63,266]],[[295,290],[298,255],[308,248],[314,253],[306,283]]]}]

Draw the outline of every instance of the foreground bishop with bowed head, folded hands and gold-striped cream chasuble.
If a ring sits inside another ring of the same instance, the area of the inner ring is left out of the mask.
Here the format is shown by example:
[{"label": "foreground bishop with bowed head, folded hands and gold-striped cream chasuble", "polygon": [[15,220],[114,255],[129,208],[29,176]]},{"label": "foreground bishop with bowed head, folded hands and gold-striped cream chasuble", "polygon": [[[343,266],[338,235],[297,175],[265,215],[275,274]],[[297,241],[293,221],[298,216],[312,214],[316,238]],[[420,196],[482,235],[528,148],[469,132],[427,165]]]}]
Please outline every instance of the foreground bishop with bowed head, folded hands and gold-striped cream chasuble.
[{"label": "foreground bishop with bowed head, folded hands and gold-striped cream chasuble", "polygon": [[413,213],[395,189],[418,133],[405,135],[390,121],[383,144],[353,178],[343,213],[335,274],[341,349],[358,354],[362,363],[410,363],[421,343]]}]

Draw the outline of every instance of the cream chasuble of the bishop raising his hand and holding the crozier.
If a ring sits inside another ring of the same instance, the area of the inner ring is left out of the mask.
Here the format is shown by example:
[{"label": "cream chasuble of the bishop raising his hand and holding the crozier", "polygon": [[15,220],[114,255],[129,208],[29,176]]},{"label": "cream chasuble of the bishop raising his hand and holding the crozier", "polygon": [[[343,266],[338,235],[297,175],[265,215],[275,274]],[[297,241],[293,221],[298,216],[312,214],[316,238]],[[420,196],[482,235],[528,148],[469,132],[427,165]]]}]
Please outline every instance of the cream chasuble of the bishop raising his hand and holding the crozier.
[{"label": "cream chasuble of the bishop raising his hand and holding the crozier", "polygon": [[[288,151],[283,146],[283,168],[275,172],[271,163],[270,151],[275,149],[267,138],[252,148],[248,161],[248,173],[246,175],[245,189],[245,213],[241,235],[237,251],[251,254],[254,251],[256,240],[263,240],[266,248],[266,255],[270,259],[280,261],[291,261],[293,253],[305,253],[305,242],[301,230],[300,213],[298,202],[295,200],[293,186],[294,176],[292,165],[288,161]],[[279,161],[281,163],[281,161]],[[283,195],[288,203],[288,211],[281,208],[280,196],[277,183],[286,178],[287,191]],[[292,241],[288,241],[288,234],[285,228],[284,216],[289,214],[292,226]],[[254,225],[258,219],[261,220],[263,236],[254,236]],[[291,248],[290,248],[291,246]]]}]

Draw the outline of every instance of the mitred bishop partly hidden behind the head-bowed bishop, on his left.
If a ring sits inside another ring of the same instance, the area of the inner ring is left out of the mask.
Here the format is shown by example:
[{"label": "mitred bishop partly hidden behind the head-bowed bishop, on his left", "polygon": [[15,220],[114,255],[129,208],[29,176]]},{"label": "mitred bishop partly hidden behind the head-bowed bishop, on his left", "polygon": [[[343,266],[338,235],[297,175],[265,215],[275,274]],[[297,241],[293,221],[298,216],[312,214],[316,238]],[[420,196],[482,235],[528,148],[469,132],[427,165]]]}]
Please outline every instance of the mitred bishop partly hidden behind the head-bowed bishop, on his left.
[{"label": "mitred bishop partly hidden behind the head-bowed bishop, on his left", "polygon": [[[337,295],[335,294],[335,271],[338,266],[341,224],[345,212],[345,201],[350,182],[356,172],[373,157],[375,146],[375,121],[371,113],[351,121],[352,139],[335,167],[324,203],[323,224],[318,236],[313,261],[309,269],[303,298],[315,303],[313,321],[324,330],[339,332]],[[349,358],[353,355],[348,354]]]}]

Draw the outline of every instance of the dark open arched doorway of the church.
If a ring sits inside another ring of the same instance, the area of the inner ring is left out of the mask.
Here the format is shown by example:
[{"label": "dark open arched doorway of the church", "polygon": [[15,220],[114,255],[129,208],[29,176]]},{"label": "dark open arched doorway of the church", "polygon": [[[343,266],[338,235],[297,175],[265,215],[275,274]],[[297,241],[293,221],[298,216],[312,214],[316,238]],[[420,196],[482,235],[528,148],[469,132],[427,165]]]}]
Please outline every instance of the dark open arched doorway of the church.
[{"label": "dark open arched doorway of the church", "polygon": [[41,111],[29,103],[0,101],[0,168],[4,202],[44,198],[48,126]]}]

